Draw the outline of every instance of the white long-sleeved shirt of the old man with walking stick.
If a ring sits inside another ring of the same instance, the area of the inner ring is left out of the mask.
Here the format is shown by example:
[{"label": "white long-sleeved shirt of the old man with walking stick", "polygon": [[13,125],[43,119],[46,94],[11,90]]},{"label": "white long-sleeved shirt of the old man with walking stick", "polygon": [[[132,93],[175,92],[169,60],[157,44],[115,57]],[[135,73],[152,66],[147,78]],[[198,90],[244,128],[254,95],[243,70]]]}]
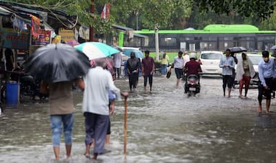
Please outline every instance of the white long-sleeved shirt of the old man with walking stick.
[{"label": "white long-sleeved shirt of the old man with walking stick", "polygon": [[83,81],[85,83],[83,112],[108,116],[108,89],[116,94],[116,97],[121,100],[120,89],[115,87],[110,72],[104,70],[102,67],[95,67],[89,69]]}]

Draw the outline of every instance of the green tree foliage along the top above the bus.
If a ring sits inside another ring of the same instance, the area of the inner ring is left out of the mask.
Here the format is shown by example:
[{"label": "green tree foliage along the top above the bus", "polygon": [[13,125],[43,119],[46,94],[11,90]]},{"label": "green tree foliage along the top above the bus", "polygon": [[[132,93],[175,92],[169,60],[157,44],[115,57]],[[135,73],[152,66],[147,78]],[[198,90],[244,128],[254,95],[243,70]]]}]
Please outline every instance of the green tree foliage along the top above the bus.
[{"label": "green tree foliage along the top above the bus", "polygon": [[[262,30],[276,30],[273,0],[94,0],[95,12],[90,13],[92,0],[7,0],[41,6],[47,10],[66,10],[77,15],[83,25],[92,25],[95,32],[105,34],[112,24],[139,29],[179,30],[202,29],[213,23],[248,23]],[[110,3],[110,19],[101,19],[103,6]],[[272,14],[273,13],[273,14]],[[265,20],[266,19],[266,20]]]}]

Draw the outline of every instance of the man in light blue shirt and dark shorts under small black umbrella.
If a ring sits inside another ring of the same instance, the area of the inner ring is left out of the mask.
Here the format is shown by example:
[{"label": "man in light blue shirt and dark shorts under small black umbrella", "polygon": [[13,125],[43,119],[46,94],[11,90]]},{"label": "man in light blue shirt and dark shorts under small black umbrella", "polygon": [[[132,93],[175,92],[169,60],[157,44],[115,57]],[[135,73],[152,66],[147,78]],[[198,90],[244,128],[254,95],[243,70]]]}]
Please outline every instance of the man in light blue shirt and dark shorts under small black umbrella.
[{"label": "man in light blue shirt and dark shorts under small black umbrella", "polygon": [[233,86],[233,69],[235,67],[235,61],[232,56],[230,56],[230,50],[226,50],[226,56],[221,57],[219,62],[219,67],[222,68],[222,88],[224,89],[224,96],[225,96],[225,89],[226,85],[228,87],[228,98],[230,98],[231,88]]}]

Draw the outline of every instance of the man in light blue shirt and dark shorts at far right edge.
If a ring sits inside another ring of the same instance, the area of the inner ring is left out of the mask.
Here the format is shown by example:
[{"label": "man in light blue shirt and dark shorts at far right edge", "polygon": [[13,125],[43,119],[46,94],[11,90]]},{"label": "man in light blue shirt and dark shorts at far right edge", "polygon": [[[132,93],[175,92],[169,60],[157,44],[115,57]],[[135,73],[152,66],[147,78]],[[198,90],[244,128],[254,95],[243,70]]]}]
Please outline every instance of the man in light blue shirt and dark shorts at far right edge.
[{"label": "man in light blue shirt and dark shorts at far right edge", "polygon": [[266,96],[266,113],[269,113],[271,92],[273,91],[273,78],[276,77],[275,73],[275,62],[273,58],[269,58],[269,52],[262,52],[264,60],[259,62],[258,71],[259,71],[259,107],[258,112],[262,113],[262,98],[263,95]]}]

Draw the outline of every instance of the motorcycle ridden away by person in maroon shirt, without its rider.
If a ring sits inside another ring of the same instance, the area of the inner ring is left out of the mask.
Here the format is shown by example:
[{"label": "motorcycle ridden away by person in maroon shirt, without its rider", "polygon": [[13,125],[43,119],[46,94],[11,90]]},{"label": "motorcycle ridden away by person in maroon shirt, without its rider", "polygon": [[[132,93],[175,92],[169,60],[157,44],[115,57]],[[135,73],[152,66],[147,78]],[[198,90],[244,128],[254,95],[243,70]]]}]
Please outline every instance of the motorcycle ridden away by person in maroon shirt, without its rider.
[{"label": "motorcycle ridden away by person in maroon shirt, without its rider", "polygon": [[194,95],[198,94],[200,91],[200,84],[199,84],[199,76],[190,74],[186,77],[186,81],[184,83],[184,91],[186,94]]}]

